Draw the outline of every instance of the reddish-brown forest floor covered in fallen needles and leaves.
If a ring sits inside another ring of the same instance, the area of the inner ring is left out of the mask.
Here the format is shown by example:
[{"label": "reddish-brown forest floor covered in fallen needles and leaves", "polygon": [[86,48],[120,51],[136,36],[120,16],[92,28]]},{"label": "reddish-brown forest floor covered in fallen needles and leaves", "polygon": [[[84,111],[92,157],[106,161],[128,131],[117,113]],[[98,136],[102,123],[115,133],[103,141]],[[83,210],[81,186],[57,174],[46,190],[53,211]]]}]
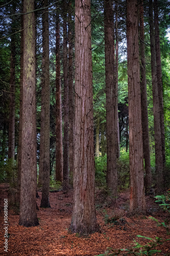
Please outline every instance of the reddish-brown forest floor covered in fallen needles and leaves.
[{"label": "reddish-brown forest floor covered in fallen needles and leaves", "polygon": [[[147,215],[129,216],[129,190],[120,193],[116,204],[111,206],[110,199],[105,195],[105,192],[96,189],[96,216],[102,233],[79,237],[76,233],[68,232],[72,213],[73,190],[70,189],[67,193],[65,191],[50,193],[51,208],[40,208],[41,193],[38,194],[40,196],[37,199],[39,226],[29,228],[19,226],[19,215],[14,209],[9,209],[8,252],[5,252],[4,199],[8,198],[8,185],[0,184],[0,255],[94,256],[104,254],[108,247],[114,249],[130,248],[134,245],[134,240],[142,245],[150,242],[148,239],[136,237],[137,235],[152,239],[156,237],[163,240],[170,239],[165,228],[158,227],[156,222],[149,218],[152,216],[157,218],[159,222],[169,218],[168,214],[163,212],[160,206],[155,203],[152,195],[146,196]],[[109,220],[114,220],[114,222],[109,223]],[[156,249],[162,252],[156,252],[153,255],[170,255],[170,241],[158,245]]]}]

